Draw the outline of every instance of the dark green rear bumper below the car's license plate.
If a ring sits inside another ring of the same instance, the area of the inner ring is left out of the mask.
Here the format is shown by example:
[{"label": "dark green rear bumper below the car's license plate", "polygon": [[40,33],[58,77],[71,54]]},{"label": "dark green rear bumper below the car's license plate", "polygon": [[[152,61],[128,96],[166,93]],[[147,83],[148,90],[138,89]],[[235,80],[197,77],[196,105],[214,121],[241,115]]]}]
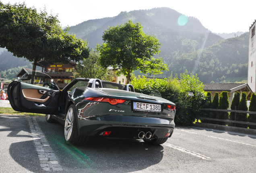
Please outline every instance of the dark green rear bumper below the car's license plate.
[{"label": "dark green rear bumper below the car's license plate", "polygon": [[104,131],[111,131],[108,137],[138,138],[141,131],[152,133],[153,138],[163,138],[167,133],[171,137],[175,127],[173,119],[159,117],[138,117],[122,115],[103,115],[79,119],[78,130],[80,135],[99,136]]}]

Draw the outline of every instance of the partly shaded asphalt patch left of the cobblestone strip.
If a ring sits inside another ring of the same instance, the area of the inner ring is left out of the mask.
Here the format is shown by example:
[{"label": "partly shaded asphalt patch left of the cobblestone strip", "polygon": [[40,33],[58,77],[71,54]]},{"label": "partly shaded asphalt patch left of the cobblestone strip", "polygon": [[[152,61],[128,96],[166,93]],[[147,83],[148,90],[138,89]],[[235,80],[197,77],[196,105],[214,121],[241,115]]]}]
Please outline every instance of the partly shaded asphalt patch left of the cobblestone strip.
[{"label": "partly shaded asphalt patch left of the cobblestone strip", "polygon": [[4,141],[1,145],[1,162],[8,165],[1,167],[0,172],[41,172],[27,116],[1,114],[0,133]]}]

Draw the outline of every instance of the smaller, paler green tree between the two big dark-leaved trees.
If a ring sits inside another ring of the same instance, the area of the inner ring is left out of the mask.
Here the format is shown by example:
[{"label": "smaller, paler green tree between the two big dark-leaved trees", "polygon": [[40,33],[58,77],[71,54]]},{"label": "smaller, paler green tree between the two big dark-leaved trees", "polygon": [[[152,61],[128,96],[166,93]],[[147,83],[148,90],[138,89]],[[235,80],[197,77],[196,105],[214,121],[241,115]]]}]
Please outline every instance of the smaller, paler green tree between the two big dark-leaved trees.
[{"label": "smaller, paler green tree between the two big dark-leaved trees", "polygon": [[88,58],[84,58],[82,62],[78,62],[76,70],[74,70],[74,77],[105,79],[107,68],[103,68],[98,60],[99,53],[92,49]]}]

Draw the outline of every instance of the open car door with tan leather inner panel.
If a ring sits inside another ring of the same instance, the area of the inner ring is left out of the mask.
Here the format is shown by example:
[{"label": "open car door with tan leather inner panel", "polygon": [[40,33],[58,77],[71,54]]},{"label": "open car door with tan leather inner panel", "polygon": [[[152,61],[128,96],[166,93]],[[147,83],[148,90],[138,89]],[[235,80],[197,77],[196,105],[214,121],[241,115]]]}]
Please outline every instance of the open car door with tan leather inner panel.
[{"label": "open car door with tan leather inner panel", "polygon": [[8,98],[15,111],[55,114],[60,91],[24,82],[13,81],[8,86]]}]

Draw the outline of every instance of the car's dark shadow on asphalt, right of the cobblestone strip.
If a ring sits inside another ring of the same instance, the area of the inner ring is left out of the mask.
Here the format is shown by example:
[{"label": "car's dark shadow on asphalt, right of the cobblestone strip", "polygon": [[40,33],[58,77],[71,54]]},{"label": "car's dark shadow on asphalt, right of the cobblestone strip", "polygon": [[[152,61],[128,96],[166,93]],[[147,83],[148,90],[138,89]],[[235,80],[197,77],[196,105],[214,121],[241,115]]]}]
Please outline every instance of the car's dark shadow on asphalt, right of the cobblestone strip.
[{"label": "car's dark shadow on asphalt, right of the cobblestone strip", "polygon": [[162,145],[147,145],[136,139],[90,138],[87,145],[69,146],[62,125],[45,121],[39,125],[64,170],[126,173],[146,169],[163,159]]}]

